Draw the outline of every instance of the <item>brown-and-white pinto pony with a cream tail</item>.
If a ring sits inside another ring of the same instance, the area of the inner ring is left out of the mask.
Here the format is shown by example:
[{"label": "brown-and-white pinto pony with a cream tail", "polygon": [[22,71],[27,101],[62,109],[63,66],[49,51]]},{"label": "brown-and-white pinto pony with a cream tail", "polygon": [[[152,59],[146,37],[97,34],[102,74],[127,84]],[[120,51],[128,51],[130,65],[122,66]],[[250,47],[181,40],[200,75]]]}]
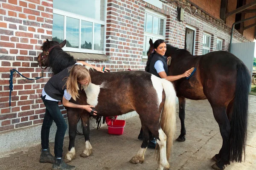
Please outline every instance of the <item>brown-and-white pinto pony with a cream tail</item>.
[{"label": "brown-and-white pinto pony with a cream tail", "polygon": [[[46,41],[42,53],[38,56],[41,66],[50,67],[53,74],[75,63],[72,56],[62,50],[66,41],[58,43]],[[89,68],[91,83],[75,102],[79,105],[93,105],[100,116],[116,116],[137,111],[143,127],[143,143],[130,162],[143,163],[144,153],[148,146],[149,132],[157,139],[158,170],[169,169],[168,159],[175,138],[175,89],[171,82],[157,78],[145,71],[123,71],[101,73]],[[66,108],[69,122],[69,148],[66,159],[71,161],[75,154],[75,137],[77,120],[81,117],[85,138],[85,150],[80,156],[87,157],[92,153],[89,142],[89,113],[78,108]]]}]

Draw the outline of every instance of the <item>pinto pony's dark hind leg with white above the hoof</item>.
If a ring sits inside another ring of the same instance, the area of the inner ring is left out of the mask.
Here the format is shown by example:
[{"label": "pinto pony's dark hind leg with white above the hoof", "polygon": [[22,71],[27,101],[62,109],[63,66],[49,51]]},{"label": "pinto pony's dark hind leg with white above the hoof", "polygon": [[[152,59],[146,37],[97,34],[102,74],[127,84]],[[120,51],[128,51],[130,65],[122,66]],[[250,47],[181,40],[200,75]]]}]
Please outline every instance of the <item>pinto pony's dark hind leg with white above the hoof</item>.
[{"label": "pinto pony's dark hind leg with white above the hoof", "polygon": [[133,163],[133,164],[138,164],[138,163],[143,163],[144,162],[144,153],[145,153],[145,151],[148,147],[148,143],[149,143],[149,140],[150,140],[148,127],[145,125],[145,122],[142,121],[141,116],[140,116],[140,121],[141,121],[142,129],[143,129],[143,142],[140,146],[140,150],[130,160],[130,162]]}]

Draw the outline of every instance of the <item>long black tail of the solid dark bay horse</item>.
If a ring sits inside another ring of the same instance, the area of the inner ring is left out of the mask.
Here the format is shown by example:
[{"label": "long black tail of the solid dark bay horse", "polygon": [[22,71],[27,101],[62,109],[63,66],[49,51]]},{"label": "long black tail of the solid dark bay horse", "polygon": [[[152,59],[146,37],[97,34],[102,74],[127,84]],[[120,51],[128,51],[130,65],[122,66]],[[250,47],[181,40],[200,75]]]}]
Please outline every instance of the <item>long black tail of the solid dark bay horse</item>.
[{"label": "long black tail of the solid dark bay horse", "polygon": [[230,122],[230,161],[241,162],[243,152],[245,159],[250,82],[250,73],[247,67],[241,62],[241,64],[237,65],[236,91],[233,103],[233,114]]}]

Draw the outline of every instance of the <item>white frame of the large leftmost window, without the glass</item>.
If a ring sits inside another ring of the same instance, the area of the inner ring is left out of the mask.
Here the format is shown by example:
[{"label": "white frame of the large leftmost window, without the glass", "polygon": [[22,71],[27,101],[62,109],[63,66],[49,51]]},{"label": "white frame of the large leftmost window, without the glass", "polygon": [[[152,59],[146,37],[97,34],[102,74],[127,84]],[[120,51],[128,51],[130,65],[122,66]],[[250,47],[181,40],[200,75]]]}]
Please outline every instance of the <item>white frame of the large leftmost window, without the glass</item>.
[{"label": "white frame of the large leftmost window, without the glass", "polygon": [[[104,10],[106,11],[107,10],[106,0],[104,1],[104,3],[105,3],[105,9]],[[106,49],[106,18],[107,18],[106,15],[104,16],[104,21],[101,21],[101,20],[96,20],[96,19],[89,18],[89,17],[84,17],[84,16],[81,16],[81,15],[78,15],[78,14],[73,14],[73,13],[70,13],[70,12],[67,12],[67,11],[62,11],[62,10],[55,9],[55,8],[53,8],[53,14],[58,14],[58,15],[64,16],[64,40],[66,40],[66,23],[67,23],[66,20],[67,20],[67,17],[71,17],[71,18],[75,18],[75,19],[79,20],[79,48],[67,47],[65,45],[63,47],[64,51],[79,52],[79,53],[91,53],[91,54],[105,54],[105,49]],[[104,25],[103,51],[81,48],[81,20],[93,23],[93,28],[92,28],[92,30],[93,30],[93,32],[92,32],[92,34],[93,34],[93,37],[92,37],[92,48],[94,48],[94,23]]]}]

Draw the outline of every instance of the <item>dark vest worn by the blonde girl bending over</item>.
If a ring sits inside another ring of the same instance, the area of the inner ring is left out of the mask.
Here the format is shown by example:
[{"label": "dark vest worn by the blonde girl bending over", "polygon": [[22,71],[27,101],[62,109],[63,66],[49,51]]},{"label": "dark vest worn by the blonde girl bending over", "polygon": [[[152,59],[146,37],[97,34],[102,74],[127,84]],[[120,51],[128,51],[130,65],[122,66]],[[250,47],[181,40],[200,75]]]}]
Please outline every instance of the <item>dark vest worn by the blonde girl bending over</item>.
[{"label": "dark vest worn by the blonde girl bending over", "polygon": [[67,78],[64,78],[68,77],[70,74],[68,70],[69,68],[65,68],[58,74],[55,74],[52,78],[49,79],[49,81],[44,86],[45,93],[48,96],[52,97],[52,99],[62,101],[64,90],[67,89],[67,86],[65,85]]}]

